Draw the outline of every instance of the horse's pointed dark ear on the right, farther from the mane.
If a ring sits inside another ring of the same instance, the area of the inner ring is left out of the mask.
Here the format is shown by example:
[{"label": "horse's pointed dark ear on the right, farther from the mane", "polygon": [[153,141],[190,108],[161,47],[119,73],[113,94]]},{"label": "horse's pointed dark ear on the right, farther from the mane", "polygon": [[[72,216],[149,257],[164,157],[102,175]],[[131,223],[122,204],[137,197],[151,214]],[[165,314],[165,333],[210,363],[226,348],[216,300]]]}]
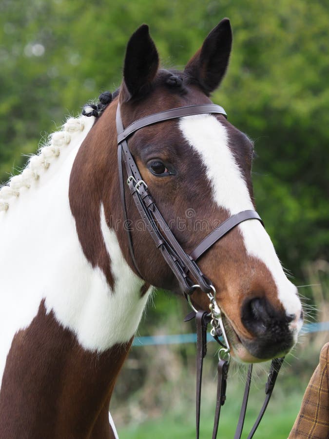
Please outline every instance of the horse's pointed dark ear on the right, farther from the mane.
[{"label": "horse's pointed dark ear on the right, farther from the mane", "polygon": [[196,80],[206,95],[215,90],[225,75],[232,47],[229,19],[221,20],[187,63],[185,73]]}]

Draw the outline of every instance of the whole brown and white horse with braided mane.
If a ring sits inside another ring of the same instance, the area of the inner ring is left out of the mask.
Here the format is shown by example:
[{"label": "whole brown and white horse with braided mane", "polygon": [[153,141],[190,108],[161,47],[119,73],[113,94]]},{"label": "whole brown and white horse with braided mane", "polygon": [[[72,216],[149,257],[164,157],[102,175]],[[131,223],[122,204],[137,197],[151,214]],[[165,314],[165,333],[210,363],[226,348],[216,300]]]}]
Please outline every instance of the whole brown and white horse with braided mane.
[{"label": "whole brown and white horse with braided mane", "polygon": [[[231,46],[224,19],[183,71],[167,70],[148,26],[140,26],[113,96],[67,120],[1,188],[1,438],[117,438],[111,395],[148,299],[155,288],[182,291],[140,223],[128,185],[120,192],[118,107],[127,127],[158,112],[212,105]],[[216,224],[255,211],[253,144],[224,112],[144,126],[130,136],[129,150],[139,189],[148,187],[186,255]],[[207,310],[213,297],[237,361],[290,351],[302,307],[257,218],[216,240],[198,267],[213,296],[189,284],[190,301]]]}]

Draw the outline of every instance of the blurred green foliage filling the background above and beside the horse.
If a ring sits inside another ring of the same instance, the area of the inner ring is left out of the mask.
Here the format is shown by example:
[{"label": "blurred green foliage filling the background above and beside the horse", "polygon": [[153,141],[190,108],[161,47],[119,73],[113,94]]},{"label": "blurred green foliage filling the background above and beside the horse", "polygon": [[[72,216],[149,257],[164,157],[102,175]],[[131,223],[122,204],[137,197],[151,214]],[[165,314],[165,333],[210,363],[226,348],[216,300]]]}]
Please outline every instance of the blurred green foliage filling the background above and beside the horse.
[{"label": "blurred green foliage filling the background above and beside the horse", "polygon": [[328,12],[321,0],[1,0],[0,181],[54,121],[120,84],[126,42],[141,23],[162,64],[182,68],[227,16],[231,65],[213,101],[255,140],[257,207],[301,278],[304,261],[328,258]]}]

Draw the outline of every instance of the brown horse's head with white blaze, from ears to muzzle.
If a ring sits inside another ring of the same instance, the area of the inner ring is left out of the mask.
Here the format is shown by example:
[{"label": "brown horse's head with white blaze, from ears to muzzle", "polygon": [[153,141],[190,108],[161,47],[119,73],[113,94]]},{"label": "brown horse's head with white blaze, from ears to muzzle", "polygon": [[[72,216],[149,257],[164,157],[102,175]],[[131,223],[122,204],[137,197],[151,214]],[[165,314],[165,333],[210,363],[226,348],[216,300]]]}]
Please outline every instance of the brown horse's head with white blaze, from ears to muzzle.
[{"label": "brown horse's head with white blaze, from ears to muzzle", "polygon": [[[226,72],[231,45],[230,22],[224,19],[183,71],[166,70],[159,68],[155,43],[148,26],[142,25],[128,42],[119,93],[85,140],[89,160],[80,158],[78,168],[89,166],[86,172],[98,176],[94,178],[106,224],[115,230],[124,259],[145,285],[179,292],[127,187],[129,224],[124,221],[113,140],[117,105],[127,127],[160,111],[212,103],[209,96]],[[223,115],[199,114],[145,126],[129,138],[129,149],[158,209],[187,254],[219,223],[240,211],[255,209],[252,141]],[[80,150],[83,153],[83,145]],[[79,151],[77,160],[82,153]],[[135,263],[125,226],[131,229]],[[201,256],[198,265],[213,283],[237,359],[261,361],[292,348],[302,325],[301,303],[258,220],[236,226]],[[146,290],[144,287],[142,292]],[[208,309],[209,299],[200,289],[191,299],[195,308]]]}]

